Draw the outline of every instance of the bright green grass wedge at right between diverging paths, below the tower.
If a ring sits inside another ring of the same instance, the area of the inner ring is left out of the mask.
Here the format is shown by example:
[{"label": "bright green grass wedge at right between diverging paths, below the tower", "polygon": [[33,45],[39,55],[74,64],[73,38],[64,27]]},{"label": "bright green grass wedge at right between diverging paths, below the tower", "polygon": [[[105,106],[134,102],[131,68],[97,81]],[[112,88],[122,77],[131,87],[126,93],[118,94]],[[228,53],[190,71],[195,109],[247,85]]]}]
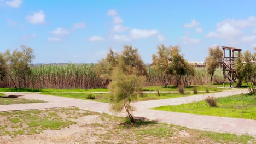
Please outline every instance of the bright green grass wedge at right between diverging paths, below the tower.
[{"label": "bright green grass wedge at right between diverging paths, below the tower", "polygon": [[210,107],[206,101],[177,106],[160,106],[155,110],[194,113],[199,115],[256,119],[256,97],[240,94],[217,99],[218,107]]}]

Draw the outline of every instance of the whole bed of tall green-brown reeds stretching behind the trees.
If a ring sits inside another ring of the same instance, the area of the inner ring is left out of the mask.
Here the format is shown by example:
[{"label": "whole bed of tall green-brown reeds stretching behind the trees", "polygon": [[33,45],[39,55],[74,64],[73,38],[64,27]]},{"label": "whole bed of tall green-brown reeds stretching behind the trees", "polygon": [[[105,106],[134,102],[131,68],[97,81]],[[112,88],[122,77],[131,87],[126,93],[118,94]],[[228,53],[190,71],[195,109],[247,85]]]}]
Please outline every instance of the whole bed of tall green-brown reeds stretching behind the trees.
[{"label": "whole bed of tall green-brown reeds stretching behind the trees", "polygon": [[[144,86],[159,86],[164,81],[164,76],[157,73],[150,65],[146,68],[146,81]],[[223,80],[222,70],[217,69],[213,76],[214,83],[220,83]],[[210,83],[210,76],[207,75],[205,68],[195,68],[194,76],[183,76],[182,84],[201,85]],[[176,85],[176,79],[173,76],[169,85]],[[31,68],[31,75],[21,82],[22,88],[57,88],[57,89],[91,89],[106,88],[105,83],[96,75],[95,64],[66,64],[66,65],[40,65]],[[13,88],[14,85],[7,79],[0,81],[0,87]]]}]

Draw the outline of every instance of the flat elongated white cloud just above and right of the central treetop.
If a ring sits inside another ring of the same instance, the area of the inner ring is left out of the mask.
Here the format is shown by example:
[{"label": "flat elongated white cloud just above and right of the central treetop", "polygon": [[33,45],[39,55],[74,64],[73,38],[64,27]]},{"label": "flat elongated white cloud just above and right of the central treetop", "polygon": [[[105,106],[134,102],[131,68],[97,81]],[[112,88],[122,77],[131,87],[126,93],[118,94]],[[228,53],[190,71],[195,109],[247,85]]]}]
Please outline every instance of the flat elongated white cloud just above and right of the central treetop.
[{"label": "flat elongated white cloud just above and right of the central treetop", "polygon": [[155,29],[152,29],[152,30],[131,29],[132,39],[149,38],[156,34],[158,34],[158,31]]}]

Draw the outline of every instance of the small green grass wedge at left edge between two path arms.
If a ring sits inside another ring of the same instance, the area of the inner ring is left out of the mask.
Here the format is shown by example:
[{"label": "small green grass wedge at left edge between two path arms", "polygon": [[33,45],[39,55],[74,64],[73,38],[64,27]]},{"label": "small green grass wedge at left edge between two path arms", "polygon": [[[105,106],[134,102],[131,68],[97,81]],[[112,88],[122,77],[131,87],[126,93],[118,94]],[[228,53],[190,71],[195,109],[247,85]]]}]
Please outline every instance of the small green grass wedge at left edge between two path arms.
[{"label": "small green grass wedge at left edge between two path arms", "polygon": [[44,103],[43,100],[31,100],[21,98],[8,98],[5,94],[0,93],[0,105],[12,105],[12,104],[28,104],[28,103]]}]

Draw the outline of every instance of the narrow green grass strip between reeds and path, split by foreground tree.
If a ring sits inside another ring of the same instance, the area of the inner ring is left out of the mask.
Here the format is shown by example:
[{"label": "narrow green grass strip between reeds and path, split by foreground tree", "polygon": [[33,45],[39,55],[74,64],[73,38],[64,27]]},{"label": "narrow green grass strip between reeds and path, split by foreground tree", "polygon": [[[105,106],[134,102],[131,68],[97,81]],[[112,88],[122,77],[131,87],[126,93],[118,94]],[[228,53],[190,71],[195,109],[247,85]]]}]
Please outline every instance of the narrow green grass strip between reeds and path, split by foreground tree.
[{"label": "narrow green grass strip between reeds and path, split by foreground tree", "polygon": [[[41,94],[46,95],[54,95],[54,96],[60,96],[60,97],[66,97],[66,98],[75,98],[75,99],[83,99],[83,100],[93,100],[103,103],[109,103],[109,94],[104,93],[51,93],[51,92],[42,92]],[[95,97],[95,99],[88,99],[86,98],[88,94],[91,94]],[[198,94],[205,94],[205,93],[198,93]],[[145,100],[157,100],[157,99],[170,99],[170,98],[178,98],[178,97],[186,97],[189,95],[194,95],[194,93],[161,93],[160,96],[158,96],[156,93],[144,93],[143,96],[138,95],[139,101],[145,101]],[[137,101],[135,100],[135,101]]]}]

